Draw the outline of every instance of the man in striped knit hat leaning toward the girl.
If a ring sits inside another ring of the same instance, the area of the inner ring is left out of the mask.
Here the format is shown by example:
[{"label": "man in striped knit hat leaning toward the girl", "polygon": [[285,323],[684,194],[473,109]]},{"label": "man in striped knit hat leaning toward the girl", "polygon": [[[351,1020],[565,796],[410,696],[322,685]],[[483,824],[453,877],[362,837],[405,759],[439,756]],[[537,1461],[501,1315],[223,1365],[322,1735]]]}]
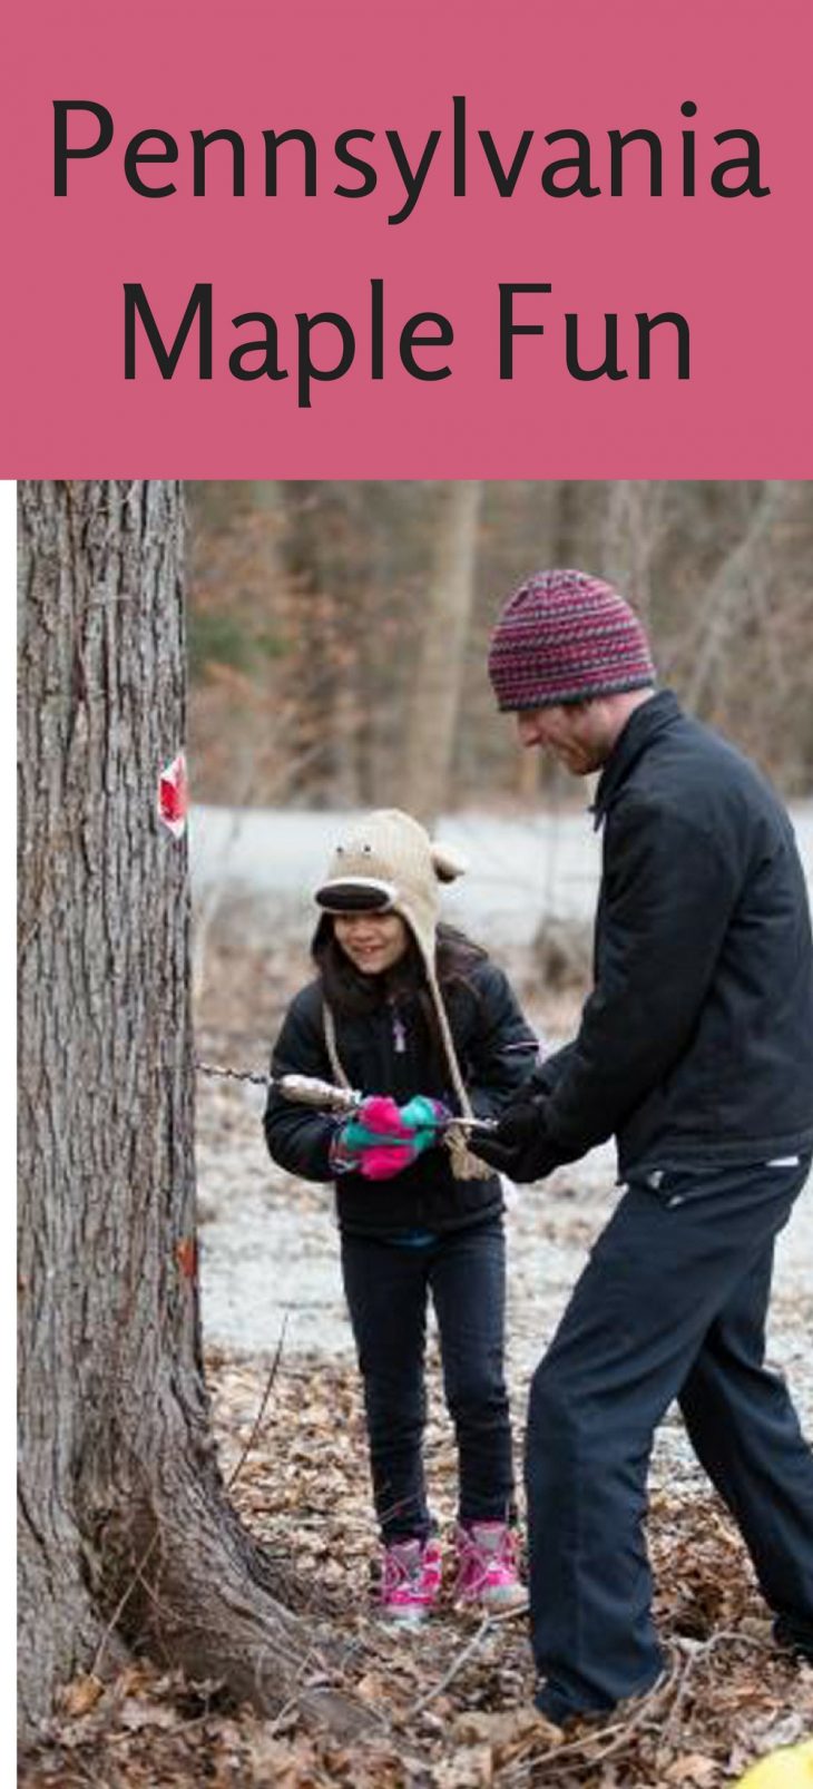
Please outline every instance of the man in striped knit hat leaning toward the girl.
[{"label": "man in striped knit hat leaning toward the girl", "polygon": [[615,1134],[625,1183],[531,1388],[538,1707],[561,1726],[661,1673],[641,1522],[675,1397],[777,1639],[813,1657],[813,1460],[763,1365],[774,1240],[813,1150],[813,946],[784,809],[656,694],[643,628],[609,585],[531,578],[490,674],[522,744],[600,771],[595,986],[574,1043],[477,1143],[536,1181]]}]

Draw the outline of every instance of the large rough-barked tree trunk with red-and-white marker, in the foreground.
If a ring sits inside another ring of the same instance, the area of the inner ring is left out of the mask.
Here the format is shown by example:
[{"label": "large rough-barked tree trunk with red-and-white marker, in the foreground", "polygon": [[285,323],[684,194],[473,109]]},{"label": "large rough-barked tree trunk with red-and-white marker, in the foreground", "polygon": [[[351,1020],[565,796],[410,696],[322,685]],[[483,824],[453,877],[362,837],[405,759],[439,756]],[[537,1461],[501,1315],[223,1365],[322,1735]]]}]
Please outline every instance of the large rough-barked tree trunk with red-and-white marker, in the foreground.
[{"label": "large rough-barked tree trunk with red-and-white marker, in the foreground", "polygon": [[[123,1642],[263,1710],[313,1637],[209,1431],[195,1265],[173,483],[20,487],[20,1703]],[[116,1639],[111,1639],[116,1635]]]}]

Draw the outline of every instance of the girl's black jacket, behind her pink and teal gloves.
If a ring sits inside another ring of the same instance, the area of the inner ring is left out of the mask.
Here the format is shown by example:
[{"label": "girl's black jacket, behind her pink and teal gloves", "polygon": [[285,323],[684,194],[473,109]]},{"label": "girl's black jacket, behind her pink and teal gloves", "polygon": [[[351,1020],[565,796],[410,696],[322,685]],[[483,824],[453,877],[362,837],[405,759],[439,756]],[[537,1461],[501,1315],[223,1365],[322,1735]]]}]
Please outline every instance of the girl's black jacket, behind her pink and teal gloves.
[{"label": "girl's black jacket, behind her pink and teal gloves", "polygon": [[[450,984],[445,1004],[472,1107],[479,1118],[497,1116],[534,1066],[534,1032],[502,970],[488,959],[475,961],[465,982]],[[398,1102],[429,1093],[456,1109],[415,998],[398,1002],[397,1009],[382,1000],[365,1018],[338,1018],[336,1043],[350,1086],[361,1093],[391,1093]],[[531,1047],[511,1048],[516,1043]],[[291,1002],[273,1050],[272,1073],[332,1081],[318,980]],[[282,1168],[306,1181],[331,1181],[334,1131],[336,1118],[293,1106],[270,1090],[264,1134],[273,1161]],[[359,1234],[447,1231],[500,1211],[502,1188],[495,1174],[482,1181],[454,1179],[448,1152],[438,1147],[390,1181],[339,1175],[336,1209],[341,1229]]]}]

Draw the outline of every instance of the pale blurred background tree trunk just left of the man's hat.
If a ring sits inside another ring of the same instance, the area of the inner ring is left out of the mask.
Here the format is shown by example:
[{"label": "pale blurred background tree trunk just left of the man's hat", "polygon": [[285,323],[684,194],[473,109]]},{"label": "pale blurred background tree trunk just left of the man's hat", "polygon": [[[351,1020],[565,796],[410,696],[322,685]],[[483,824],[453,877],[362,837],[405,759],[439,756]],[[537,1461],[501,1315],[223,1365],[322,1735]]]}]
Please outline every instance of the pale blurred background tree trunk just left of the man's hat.
[{"label": "pale blurred background tree trunk just left of the man's hat", "polygon": [[474,601],[481,494],[481,483],[472,479],[440,488],[434,564],[420,615],[404,751],[404,807],[425,827],[438,818],[448,785]]}]

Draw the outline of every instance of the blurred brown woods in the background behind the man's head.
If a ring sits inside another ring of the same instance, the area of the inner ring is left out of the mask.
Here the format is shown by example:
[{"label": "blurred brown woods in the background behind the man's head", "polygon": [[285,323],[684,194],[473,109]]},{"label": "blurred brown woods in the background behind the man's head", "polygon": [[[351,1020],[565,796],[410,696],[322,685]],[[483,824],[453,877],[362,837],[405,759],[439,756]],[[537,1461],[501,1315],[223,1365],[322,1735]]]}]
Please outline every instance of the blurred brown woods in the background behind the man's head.
[{"label": "blurred brown woods in the background behind the man's head", "polygon": [[211,483],[189,515],[198,800],[525,801],[540,760],[484,649],[540,564],[616,578],[661,680],[786,794],[813,784],[806,483]]}]

